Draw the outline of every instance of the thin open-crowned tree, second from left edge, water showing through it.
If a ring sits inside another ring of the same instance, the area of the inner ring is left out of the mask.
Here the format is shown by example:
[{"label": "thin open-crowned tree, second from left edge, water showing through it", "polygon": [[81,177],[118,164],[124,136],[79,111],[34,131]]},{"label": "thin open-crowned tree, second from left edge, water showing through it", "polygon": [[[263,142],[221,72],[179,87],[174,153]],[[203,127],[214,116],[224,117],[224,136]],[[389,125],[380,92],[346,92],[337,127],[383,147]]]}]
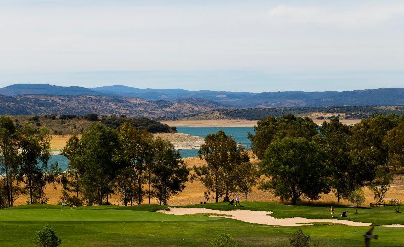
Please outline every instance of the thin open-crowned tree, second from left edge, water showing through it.
[{"label": "thin open-crowned tree, second from left edge, water showing through it", "polygon": [[[48,171],[47,161],[51,155],[49,131],[41,127],[38,130],[26,123],[19,129],[21,168],[20,179],[25,183],[24,189],[28,191],[30,203],[45,203],[43,194],[46,184],[55,179],[56,174],[45,174]],[[52,166],[54,171],[57,167]]]}]

